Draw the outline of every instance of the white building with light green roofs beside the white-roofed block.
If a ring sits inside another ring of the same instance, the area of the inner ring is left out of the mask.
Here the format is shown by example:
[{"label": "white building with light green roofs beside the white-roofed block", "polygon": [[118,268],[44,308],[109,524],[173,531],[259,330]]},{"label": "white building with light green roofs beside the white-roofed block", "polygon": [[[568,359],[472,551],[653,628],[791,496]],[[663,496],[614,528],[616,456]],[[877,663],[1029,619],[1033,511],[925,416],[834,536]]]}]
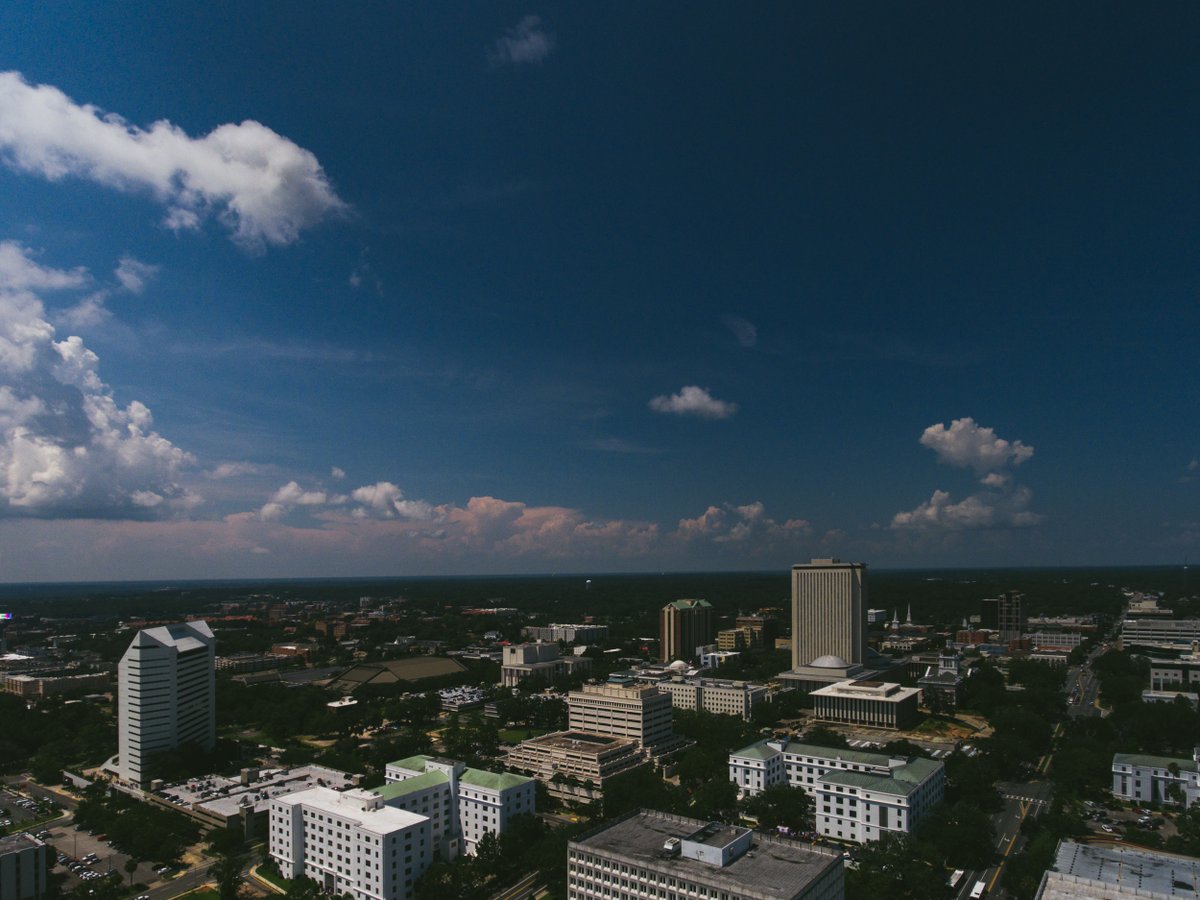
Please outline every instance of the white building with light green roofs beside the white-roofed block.
[{"label": "white building with light green roofs beside the white-roofed block", "polygon": [[485,834],[503,834],[512,816],[536,812],[534,779],[455,760],[397,760],[388,763],[385,779],[376,793],[389,806],[428,816],[434,846],[449,858],[474,854]]}]

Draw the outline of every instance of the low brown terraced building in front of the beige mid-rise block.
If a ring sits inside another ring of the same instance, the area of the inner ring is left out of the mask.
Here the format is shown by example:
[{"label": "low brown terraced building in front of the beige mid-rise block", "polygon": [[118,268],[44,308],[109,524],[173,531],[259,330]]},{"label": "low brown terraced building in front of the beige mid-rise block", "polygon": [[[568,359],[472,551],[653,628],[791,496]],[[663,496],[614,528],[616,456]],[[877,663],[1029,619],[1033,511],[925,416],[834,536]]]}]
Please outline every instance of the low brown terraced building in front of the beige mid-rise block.
[{"label": "low brown terraced building in front of the beige mid-rise block", "polygon": [[551,796],[570,800],[594,800],[608,779],[644,764],[636,740],[580,731],[529,738],[508,755],[510,769],[532,773]]}]

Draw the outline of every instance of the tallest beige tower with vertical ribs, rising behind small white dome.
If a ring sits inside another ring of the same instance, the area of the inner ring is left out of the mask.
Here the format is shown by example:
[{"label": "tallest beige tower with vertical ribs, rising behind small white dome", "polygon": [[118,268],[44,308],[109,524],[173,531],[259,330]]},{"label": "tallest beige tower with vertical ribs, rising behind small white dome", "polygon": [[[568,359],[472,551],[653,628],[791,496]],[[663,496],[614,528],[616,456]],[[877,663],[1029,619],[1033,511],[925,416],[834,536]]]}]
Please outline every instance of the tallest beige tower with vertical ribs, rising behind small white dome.
[{"label": "tallest beige tower with vertical ribs, rising behind small white dome", "polygon": [[866,565],[814,559],[792,566],[792,668],[835,656],[866,662]]}]

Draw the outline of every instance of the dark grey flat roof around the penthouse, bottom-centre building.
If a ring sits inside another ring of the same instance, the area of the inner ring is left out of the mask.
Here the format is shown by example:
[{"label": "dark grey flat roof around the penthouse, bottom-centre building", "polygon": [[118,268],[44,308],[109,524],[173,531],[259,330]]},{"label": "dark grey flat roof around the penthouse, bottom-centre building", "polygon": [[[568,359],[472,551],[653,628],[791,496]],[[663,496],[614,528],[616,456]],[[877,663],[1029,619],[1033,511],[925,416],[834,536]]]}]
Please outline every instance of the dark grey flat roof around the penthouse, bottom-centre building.
[{"label": "dark grey flat roof around the penthouse, bottom-centre building", "polygon": [[617,857],[676,878],[756,900],[792,900],[828,869],[841,869],[841,854],[784,838],[754,835],[750,850],[724,869],[684,857],[666,857],[668,838],[688,839],[708,823],[642,810],[571,841],[571,848]]}]

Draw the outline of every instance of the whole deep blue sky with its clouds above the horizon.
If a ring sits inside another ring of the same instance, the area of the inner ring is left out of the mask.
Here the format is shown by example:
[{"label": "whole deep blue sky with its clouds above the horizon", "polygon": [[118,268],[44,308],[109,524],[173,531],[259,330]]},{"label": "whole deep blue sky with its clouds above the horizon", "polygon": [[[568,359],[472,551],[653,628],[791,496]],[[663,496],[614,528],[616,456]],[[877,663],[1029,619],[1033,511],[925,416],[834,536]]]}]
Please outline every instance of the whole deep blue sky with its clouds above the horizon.
[{"label": "whole deep blue sky with its clouds above the horizon", "polygon": [[0,6],[5,580],[1200,556],[1200,12]]}]

